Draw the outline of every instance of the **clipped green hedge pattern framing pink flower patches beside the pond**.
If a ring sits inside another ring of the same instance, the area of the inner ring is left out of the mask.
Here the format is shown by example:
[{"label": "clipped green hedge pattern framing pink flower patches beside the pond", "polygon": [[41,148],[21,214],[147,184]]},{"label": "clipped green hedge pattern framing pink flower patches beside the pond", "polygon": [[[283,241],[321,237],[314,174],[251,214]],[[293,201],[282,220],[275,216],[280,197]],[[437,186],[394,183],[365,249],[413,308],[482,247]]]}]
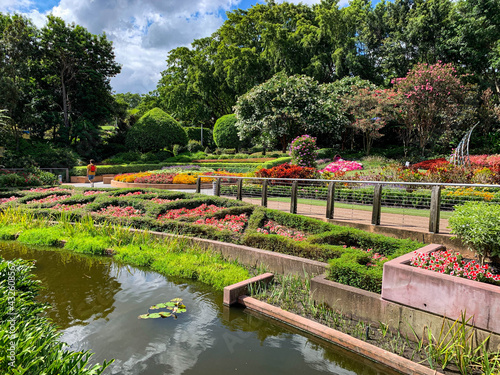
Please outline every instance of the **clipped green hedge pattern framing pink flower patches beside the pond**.
[{"label": "clipped green hedge pattern framing pink flower patches beside the pond", "polygon": [[[377,293],[381,291],[382,266],[384,261],[371,260],[370,262],[374,266],[368,264],[370,258],[365,250],[372,249],[373,252],[383,255],[387,259],[393,259],[423,246],[422,243],[417,241],[400,240],[380,234],[367,233],[355,228],[336,226],[318,219],[271,210],[221,197],[169,192],[157,189],[118,189],[112,190],[108,194],[86,197],[83,195],[84,191],[85,189],[75,189],[73,196],[68,200],[68,203],[90,202],[90,204],[83,208],[65,213],[65,215],[73,220],[81,219],[90,214],[97,223],[111,222],[137,229],[195,236],[243,244],[311,260],[329,261],[329,275],[332,280]],[[121,194],[137,191],[144,194],[118,197]],[[39,193],[39,196],[46,196],[46,194]],[[4,206],[21,207],[22,209],[28,209],[36,215],[56,219],[58,213],[51,210],[50,207],[53,207],[57,203],[67,203],[59,201],[30,205],[31,207],[27,207],[22,203],[28,199],[33,199],[34,195],[36,194],[28,193],[27,196],[29,198],[21,198],[21,202],[9,202]],[[150,201],[153,196],[179,200],[157,204]],[[156,219],[158,215],[168,210],[181,207],[188,209],[195,208],[202,203],[226,207],[206,217],[223,218],[225,215],[246,213],[249,216],[249,221],[244,232],[220,231],[208,225],[193,224],[198,217],[162,221]],[[91,213],[91,211],[98,210],[107,205],[132,206],[143,211],[144,216],[119,218]],[[259,233],[257,229],[262,227],[267,220],[273,220],[280,225],[307,233],[306,240],[295,241],[276,234],[266,235]]]}]

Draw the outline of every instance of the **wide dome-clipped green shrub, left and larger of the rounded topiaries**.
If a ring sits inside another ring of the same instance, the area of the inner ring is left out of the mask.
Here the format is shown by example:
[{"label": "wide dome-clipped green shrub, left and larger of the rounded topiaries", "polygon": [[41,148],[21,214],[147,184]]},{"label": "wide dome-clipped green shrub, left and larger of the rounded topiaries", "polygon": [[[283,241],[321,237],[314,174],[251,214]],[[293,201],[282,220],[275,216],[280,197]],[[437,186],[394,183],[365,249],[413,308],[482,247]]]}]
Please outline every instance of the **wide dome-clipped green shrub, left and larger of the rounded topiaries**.
[{"label": "wide dome-clipped green shrub, left and larger of the rounded topiaries", "polygon": [[141,152],[171,149],[174,144],[187,145],[186,131],[160,108],[146,112],[127,133],[126,145]]}]

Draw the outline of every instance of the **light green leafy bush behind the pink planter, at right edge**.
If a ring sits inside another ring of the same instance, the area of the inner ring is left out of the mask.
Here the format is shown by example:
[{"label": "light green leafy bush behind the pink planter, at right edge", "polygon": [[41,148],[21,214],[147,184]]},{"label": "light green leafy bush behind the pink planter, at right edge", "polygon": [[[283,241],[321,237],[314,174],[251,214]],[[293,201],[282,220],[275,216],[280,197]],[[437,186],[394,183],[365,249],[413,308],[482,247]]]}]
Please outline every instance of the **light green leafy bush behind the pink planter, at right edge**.
[{"label": "light green leafy bush behind the pink planter, at right edge", "polygon": [[452,233],[474,250],[481,263],[485,257],[500,256],[500,206],[467,202],[455,207],[449,219]]}]

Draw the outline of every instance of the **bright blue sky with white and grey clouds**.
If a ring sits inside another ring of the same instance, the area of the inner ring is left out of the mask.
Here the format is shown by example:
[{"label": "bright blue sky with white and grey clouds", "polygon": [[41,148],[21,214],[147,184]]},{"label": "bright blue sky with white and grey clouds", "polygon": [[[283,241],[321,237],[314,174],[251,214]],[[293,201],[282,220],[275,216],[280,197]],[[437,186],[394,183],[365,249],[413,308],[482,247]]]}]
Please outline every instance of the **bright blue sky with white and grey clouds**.
[{"label": "bright blue sky with white and grey clouds", "polygon": [[264,0],[0,0],[0,12],[23,14],[40,28],[52,13],[93,34],[106,33],[122,67],[111,79],[113,91],[146,94],[166,69],[168,51],[210,36],[227,11],[258,3]]}]

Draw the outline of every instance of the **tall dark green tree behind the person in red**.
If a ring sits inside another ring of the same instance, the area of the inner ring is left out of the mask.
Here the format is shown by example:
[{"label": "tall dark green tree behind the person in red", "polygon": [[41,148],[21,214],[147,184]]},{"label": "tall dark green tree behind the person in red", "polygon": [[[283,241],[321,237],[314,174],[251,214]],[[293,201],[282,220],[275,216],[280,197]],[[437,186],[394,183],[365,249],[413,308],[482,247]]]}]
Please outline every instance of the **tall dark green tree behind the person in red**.
[{"label": "tall dark green tree behind the person in red", "polygon": [[78,129],[97,128],[111,117],[114,99],[109,79],[121,70],[112,43],[106,35],[93,35],[51,15],[40,43],[44,82],[53,90],[62,114],[60,133],[66,143],[78,141]]}]

